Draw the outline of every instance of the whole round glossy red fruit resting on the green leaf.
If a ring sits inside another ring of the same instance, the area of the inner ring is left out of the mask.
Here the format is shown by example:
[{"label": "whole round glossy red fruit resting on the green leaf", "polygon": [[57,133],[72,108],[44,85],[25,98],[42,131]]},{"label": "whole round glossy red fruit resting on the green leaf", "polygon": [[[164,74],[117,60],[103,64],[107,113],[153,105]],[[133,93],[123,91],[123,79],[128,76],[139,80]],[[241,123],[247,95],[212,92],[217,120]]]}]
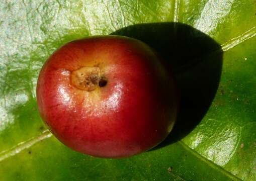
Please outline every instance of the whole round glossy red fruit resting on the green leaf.
[{"label": "whole round glossy red fruit resting on the green leaf", "polygon": [[76,40],[54,52],[41,69],[37,102],[62,143],[97,157],[156,146],[177,116],[174,79],[151,48],[121,36]]}]

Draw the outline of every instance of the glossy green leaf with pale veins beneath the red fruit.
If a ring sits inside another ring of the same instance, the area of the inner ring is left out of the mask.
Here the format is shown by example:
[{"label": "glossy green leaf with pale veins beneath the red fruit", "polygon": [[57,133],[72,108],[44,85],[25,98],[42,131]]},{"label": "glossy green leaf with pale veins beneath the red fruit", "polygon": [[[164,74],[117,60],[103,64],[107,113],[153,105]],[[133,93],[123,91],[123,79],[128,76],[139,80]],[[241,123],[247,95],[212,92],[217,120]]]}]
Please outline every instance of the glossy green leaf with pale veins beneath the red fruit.
[{"label": "glossy green leaf with pale veins beneath the red fruit", "polygon": [[[254,0],[3,1],[0,180],[256,180],[255,13]],[[107,34],[154,47],[181,91],[169,137],[126,159],[70,150],[36,104],[54,50]]]}]

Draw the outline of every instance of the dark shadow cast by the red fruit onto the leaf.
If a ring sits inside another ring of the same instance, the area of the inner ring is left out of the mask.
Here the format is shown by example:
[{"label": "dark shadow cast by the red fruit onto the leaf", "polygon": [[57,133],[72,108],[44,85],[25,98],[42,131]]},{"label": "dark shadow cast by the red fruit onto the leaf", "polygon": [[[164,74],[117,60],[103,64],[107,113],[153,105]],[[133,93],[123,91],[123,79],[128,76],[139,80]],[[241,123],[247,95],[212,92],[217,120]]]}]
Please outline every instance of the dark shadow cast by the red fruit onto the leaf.
[{"label": "dark shadow cast by the red fruit onto the leaf", "polygon": [[141,40],[162,57],[162,64],[175,74],[180,110],[173,131],[157,147],[188,135],[203,119],[215,97],[222,69],[221,46],[206,34],[181,23],[137,24],[117,30]]}]

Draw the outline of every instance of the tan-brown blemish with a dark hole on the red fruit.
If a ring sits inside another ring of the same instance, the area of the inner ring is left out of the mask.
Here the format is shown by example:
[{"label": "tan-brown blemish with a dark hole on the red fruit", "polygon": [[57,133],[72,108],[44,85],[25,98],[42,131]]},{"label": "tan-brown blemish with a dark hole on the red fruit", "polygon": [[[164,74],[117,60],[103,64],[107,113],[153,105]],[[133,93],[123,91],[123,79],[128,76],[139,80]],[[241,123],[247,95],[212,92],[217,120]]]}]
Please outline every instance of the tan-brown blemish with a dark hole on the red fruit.
[{"label": "tan-brown blemish with a dark hole on the red fruit", "polygon": [[82,67],[71,73],[71,83],[83,91],[93,91],[107,84],[107,78],[102,75],[98,66]]}]

